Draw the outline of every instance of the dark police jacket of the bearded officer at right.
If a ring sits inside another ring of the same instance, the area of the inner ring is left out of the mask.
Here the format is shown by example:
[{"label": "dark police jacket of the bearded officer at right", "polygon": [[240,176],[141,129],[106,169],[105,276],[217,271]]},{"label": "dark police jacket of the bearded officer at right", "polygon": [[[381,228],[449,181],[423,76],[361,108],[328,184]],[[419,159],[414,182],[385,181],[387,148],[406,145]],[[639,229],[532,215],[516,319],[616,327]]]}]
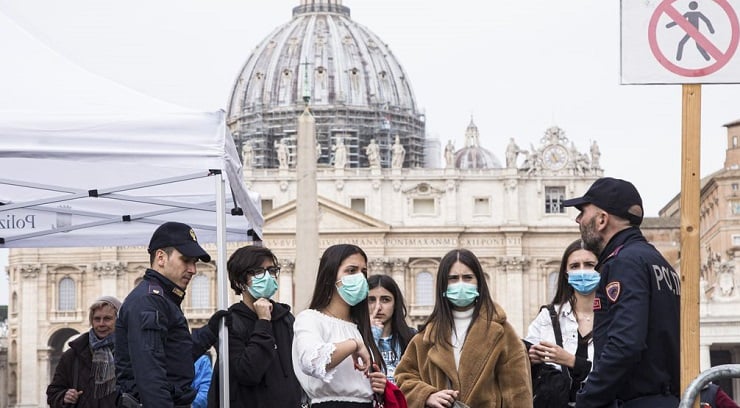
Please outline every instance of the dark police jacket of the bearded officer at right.
[{"label": "dark police jacket of the bearded officer at right", "polygon": [[680,392],[680,280],[639,228],[617,233],[599,255],[594,367],[578,408]]}]

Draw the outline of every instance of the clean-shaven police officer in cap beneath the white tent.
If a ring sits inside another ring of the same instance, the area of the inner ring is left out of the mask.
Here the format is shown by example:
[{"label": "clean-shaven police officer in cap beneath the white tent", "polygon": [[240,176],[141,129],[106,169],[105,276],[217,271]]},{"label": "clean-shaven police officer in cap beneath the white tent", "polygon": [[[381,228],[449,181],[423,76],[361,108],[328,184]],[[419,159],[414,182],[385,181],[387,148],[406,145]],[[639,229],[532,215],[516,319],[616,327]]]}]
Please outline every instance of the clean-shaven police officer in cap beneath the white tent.
[{"label": "clean-shaven police officer in cap beneath the white tent", "polygon": [[211,257],[190,226],[160,225],[149,242],[151,268],[129,293],[116,320],[116,375],[119,406],[190,407],[193,362],[218,340],[219,310],[208,324],[190,333],[180,309],[196,262]]}]

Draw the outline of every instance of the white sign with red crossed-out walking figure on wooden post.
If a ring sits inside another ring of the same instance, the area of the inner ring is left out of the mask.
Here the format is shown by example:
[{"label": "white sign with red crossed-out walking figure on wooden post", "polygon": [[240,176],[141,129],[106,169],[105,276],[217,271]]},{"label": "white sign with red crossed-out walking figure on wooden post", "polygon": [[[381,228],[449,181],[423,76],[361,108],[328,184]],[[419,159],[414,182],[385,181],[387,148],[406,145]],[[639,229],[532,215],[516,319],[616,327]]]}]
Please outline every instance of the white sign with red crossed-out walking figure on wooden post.
[{"label": "white sign with red crossed-out walking figure on wooden post", "polygon": [[740,0],[621,0],[623,84],[740,83]]}]

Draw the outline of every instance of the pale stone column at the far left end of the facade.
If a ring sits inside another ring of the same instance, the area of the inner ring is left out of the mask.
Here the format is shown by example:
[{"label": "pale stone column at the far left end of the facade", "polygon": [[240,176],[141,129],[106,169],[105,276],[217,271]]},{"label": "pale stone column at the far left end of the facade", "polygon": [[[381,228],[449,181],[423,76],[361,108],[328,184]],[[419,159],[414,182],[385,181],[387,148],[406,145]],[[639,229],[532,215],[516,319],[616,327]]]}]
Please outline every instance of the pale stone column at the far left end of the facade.
[{"label": "pale stone column at the far left end of the facade", "polygon": [[39,339],[39,273],[40,264],[20,265],[21,284],[18,293],[18,366],[17,407],[42,406],[44,393],[39,393],[39,382],[49,377],[39,372],[37,343]]}]

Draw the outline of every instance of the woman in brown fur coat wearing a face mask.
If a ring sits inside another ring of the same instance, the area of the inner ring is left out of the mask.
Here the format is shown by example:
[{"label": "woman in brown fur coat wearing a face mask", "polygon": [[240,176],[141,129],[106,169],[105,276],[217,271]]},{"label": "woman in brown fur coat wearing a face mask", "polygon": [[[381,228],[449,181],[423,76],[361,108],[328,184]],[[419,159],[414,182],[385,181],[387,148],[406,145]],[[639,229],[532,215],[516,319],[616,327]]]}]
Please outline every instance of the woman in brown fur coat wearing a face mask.
[{"label": "woman in brown fur coat wearing a face mask", "polygon": [[[491,300],[483,268],[466,249],[442,258],[437,299],[409,344],[395,377],[410,408],[532,406],[529,358],[519,335]],[[464,405],[463,405],[464,406]]]}]

